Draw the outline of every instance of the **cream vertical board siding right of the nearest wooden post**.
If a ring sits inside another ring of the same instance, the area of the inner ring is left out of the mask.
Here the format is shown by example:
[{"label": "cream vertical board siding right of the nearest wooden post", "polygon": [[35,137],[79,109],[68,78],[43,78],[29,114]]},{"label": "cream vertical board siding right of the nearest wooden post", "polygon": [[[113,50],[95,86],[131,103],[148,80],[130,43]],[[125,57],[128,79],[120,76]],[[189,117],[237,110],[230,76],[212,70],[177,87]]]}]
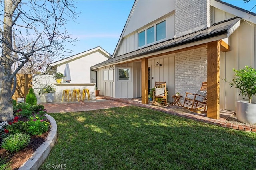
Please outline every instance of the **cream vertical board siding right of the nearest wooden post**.
[{"label": "cream vertical board siding right of the nearest wooden post", "polygon": [[[214,23],[235,17],[232,14],[213,9]],[[241,25],[228,38],[230,51],[220,52],[220,109],[235,111],[236,100],[245,100],[239,96],[239,90],[230,87],[228,82],[234,78],[236,70],[246,65],[256,68],[256,24],[242,21]],[[228,82],[225,82],[226,79]],[[252,99],[256,102],[256,97]]]}]

